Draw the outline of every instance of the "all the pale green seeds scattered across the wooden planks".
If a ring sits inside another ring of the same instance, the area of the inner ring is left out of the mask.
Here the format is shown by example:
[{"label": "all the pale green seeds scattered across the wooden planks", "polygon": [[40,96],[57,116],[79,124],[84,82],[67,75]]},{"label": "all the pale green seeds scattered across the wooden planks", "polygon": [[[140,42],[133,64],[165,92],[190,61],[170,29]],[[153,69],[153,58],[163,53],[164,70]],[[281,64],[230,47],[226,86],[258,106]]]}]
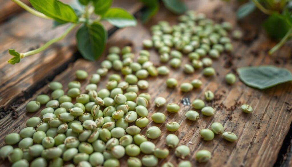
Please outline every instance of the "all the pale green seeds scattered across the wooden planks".
[{"label": "all the pale green seeds scattered across the wooden planks", "polygon": [[[179,17],[178,25],[169,25],[165,21],[159,22],[151,28],[152,40],[144,40],[145,48],[154,46],[160,54],[160,61],[169,64],[173,68],[180,67],[183,54],[187,54],[191,64],[183,66],[185,73],[194,73],[194,69],[205,67],[205,76],[214,75],[215,70],[211,58],[218,58],[223,51],[232,51],[231,40],[227,37],[227,31],[231,24],[224,22],[214,24],[213,20],[206,19],[203,13],[188,11],[187,15]],[[234,33],[240,38],[240,33]],[[175,50],[171,51],[171,48]],[[155,67],[149,61],[150,53],[141,50],[134,62],[135,55],[131,53],[129,46],[111,47],[107,60],[101,62],[101,68],[88,78],[84,70],[77,70],[75,75],[78,80],[89,80],[85,90],[81,91],[81,83],[72,81],[68,84],[67,95],[60,82],[51,82],[51,97],[46,94],[39,95],[35,101],[30,101],[26,109],[28,112],[37,112],[41,105],[46,108],[40,112],[41,117],[32,117],[27,120],[27,127],[19,134],[11,133],[5,137],[6,146],[0,149],[0,157],[8,158],[13,167],[46,167],[46,166],[120,166],[119,160],[128,155],[129,167],[153,167],[158,165],[158,159],[164,159],[169,154],[169,149],[175,149],[174,154],[182,159],[179,167],[192,166],[185,157],[190,154],[186,145],[179,144],[176,135],[169,134],[166,137],[168,148],[158,148],[149,139],[157,139],[161,130],[157,126],[147,128],[146,136],[141,135],[141,128],[148,125],[148,107],[151,95],[140,93],[140,89],[147,89],[149,83],[145,80],[148,76],[167,75],[167,66]],[[211,58],[205,57],[209,55]],[[122,60],[120,60],[120,57]],[[170,59],[170,60],[169,60]],[[105,88],[98,90],[98,82],[107,75],[108,70],[121,71],[119,74],[110,75]],[[133,74],[135,73],[135,74]],[[226,82],[233,84],[236,81],[234,74],[227,74]],[[178,81],[168,78],[166,86],[175,88]],[[199,88],[202,82],[198,79],[190,83],[183,83],[180,89],[183,92]],[[81,92],[85,92],[81,94]],[[214,99],[211,91],[204,92],[206,101]],[[72,103],[75,102],[76,103]],[[164,106],[166,99],[157,97],[154,100],[157,107]],[[192,107],[201,110],[205,116],[212,116],[215,110],[205,106],[201,99],[195,99]],[[242,110],[252,112],[252,108],[243,105]],[[169,103],[166,109],[170,113],[180,110],[178,104]],[[185,113],[187,119],[196,121],[199,113],[194,110]],[[153,113],[151,119],[155,123],[164,123],[166,117],[163,113]],[[179,123],[169,122],[166,129],[175,132],[180,128]],[[224,132],[221,123],[213,123],[211,130],[202,129],[201,137],[212,140],[215,134],[222,134],[228,141],[236,141],[237,136],[232,132]],[[12,145],[18,144],[18,148]],[[145,154],[138,159],[140,153]],[[198,162],[206,162],[211,159],[208,150],[197,151]],[[163,167],[173,167],[171,162],[166,162]]]}]

